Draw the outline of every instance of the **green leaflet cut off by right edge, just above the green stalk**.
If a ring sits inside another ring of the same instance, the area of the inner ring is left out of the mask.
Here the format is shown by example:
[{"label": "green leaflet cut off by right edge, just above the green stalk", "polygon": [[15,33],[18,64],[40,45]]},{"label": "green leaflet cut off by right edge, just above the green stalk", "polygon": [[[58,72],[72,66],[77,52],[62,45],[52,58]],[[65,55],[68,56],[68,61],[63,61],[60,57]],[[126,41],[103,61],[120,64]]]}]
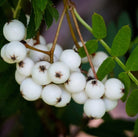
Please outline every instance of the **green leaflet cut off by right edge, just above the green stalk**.
[{"label": "green leaflet cut off by right edge, just above the green stalk", "polygon": [[126,62],[126,66],[131,71],[138,71],[138,45],[131,52],[131,54]]}]

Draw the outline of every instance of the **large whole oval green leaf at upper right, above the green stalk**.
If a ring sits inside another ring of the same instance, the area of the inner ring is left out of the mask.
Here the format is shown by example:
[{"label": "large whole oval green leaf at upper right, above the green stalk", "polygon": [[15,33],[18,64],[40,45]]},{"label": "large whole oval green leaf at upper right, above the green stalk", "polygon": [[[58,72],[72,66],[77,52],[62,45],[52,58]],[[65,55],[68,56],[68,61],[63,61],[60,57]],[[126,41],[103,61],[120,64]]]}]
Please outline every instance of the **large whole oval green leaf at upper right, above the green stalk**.
[{"label": "large whole oval green leaf at upper right, above the green stalk", "polygon": [[131,30],[128,25],[123,26],[118,33],[116,34],[112,47],[111,47],[111,54],[112,56],[122,56],[124,55],[130,44],[131,40]]}]

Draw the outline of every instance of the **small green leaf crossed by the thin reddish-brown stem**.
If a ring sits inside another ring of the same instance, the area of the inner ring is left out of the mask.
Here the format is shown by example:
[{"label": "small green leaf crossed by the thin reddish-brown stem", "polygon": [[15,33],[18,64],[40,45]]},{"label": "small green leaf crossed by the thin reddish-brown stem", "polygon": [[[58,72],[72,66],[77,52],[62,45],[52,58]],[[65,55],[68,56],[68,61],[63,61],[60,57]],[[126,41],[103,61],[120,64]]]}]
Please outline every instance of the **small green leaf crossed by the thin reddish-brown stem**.
[{"label": "small green leaf crossed by the thin reddish-brown stem", "polygon": [[[94,52],[97,50],[97,48],[98,48],[98,41],[97,41],[97,40],[89,40],[89,41],[87,41],[87,42],[85,43],[85,45],[86,45],[86,48],[87,48],[89,54],[92,54],[92,53],[94,53]],[[79,52],[79,55],[80,55],[81,57],[86,57],[86,53],[85,53],[84,47],[81,47],[81,48],[78,50],[78,52]]]}]

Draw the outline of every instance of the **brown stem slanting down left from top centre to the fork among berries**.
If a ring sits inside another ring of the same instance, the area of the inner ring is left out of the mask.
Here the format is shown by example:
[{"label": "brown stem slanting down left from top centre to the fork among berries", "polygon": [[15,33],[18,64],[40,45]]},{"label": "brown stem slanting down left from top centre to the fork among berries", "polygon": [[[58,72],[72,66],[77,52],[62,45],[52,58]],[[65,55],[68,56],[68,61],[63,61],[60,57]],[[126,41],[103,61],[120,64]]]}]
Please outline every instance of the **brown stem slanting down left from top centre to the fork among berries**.
[{"label": "brown stem slanting down left from top centre to the fork among berries", "polygon": [[55,39],[53,41],[53,45],[52,45],[52,48],[50,50],[50,63],[53,63],[54,50],[55,50],[55,47],[56,47],[59,31],[60,31],[60,28],[61,28],[61,24],[63,22],[63,18],[64,18],[64,15],[65,15],[66,9],[67,9],[67,2],[66,2],[65,6],[64,6],[64,9],[62,11],[62,14],[61,14],[61,17],[60,17],[60,20],[59,20],[59,24],[58,24],[58,28],[57,28],[57,31],[56,31]]}]

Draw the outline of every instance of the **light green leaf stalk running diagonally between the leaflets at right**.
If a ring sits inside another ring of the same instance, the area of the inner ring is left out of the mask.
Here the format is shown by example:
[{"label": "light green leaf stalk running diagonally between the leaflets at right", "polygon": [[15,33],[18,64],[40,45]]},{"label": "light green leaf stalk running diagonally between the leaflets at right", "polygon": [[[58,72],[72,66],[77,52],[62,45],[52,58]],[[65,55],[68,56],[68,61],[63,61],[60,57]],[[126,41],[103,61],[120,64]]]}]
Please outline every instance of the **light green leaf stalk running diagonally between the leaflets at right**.
[{"label": "light green leaf stalk running diagonally between the leaflets at right", "polygon": [[[78,19],[78,21],[88,30],[90,31],[91,33],[93,33],[93,29],[91,26],[89,26],[81,17],[80,15],[78,14],[78,12],[76,11],[76,9],[74,8],[73,9],[74,11],[74,14],[76,16],[76,18]],[[103,39],[100,39],[99,40],[100,43],[102,44],[102,46],[107,50],[107,52],[111,55],[111,48],[108,46],[108,44],[103,40]],[[136,85],[138,85],[138,80],[136,79],[136,77],[130,72],[128,71],[127,67],[123,64],[123,62],[118,58],[118,57],[115,57],[114,58],[115,61],[117,62],[117,64],[124,70],[127,72],[128,76],[131,78],[131,80],[133,82],[135,82]]]}]

